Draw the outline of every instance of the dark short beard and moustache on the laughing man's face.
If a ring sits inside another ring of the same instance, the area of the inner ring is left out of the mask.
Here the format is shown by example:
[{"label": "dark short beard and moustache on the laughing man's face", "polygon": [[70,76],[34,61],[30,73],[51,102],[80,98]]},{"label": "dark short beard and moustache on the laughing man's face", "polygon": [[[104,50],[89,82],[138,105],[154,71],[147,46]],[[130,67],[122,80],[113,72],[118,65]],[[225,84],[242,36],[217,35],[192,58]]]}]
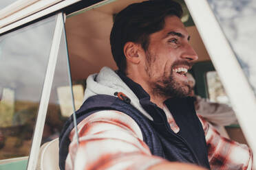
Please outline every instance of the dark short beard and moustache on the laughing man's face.
[{"label": "dark short beard and moustache on the laughing man's face", "polygon": [[[151,66],[153,62],[156,61],[156,55],[152,55],[149,53],[149,51],[146,51],[146,59],[147,63],[145,66],[145,71],[148,74],[149,77],[151,77]],[[171,73],[169,76],[163,75],[160,80],[157,82],[151,82],[151,88],[153,95],[158,95],[164,98],[169,97],[187,97],[193,90],[188,83],[185,82],[177,82],[175,81],[175,77],[173,76],[173,67],[176,65],[188,65],[191,66],[192,64],[187,61],[176,61],[173,62],[173,65],[171,66]]]}]

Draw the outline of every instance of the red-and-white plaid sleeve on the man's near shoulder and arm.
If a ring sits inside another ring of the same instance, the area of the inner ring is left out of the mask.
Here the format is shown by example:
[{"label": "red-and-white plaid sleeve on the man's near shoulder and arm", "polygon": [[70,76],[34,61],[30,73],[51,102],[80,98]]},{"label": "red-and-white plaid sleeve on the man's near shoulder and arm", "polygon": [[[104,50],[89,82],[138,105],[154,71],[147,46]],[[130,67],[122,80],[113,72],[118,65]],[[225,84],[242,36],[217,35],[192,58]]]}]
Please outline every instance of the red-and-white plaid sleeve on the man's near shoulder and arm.
[{"label": "red-and-white plaid sleeve on the man's near shoulder and arm", "polygon": [[114,110],[96,112],[70,133],[65,169],[148,169],[166,160],[152,156],[138,124]]}]

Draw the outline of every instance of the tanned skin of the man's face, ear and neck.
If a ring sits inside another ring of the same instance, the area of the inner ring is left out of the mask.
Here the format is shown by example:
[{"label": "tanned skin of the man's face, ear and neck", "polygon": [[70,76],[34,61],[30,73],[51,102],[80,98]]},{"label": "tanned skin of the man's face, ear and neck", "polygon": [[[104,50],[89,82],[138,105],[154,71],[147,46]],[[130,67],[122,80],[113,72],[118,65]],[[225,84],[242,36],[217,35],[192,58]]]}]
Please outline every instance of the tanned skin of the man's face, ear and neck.
[{"label": "tanned skin of the man's face, ear and neck", "polygon": [[172,93],[164,93],[165,88],[170,88],[167,86],[169,82],[174,84],[172,87],[175,91],[189,95],[187,77],[173,71],[180,66],[191,69],[192,63],[198,60],[198,55],[189,45],[189,38],[180,19],[177,16],[167,16],[164,28],[149,36],[146,51],[134,42],[125,44],[127,76],[140,84],[149,93],[151,101],[160,108],[163,107],[164,100],[175,97],[171,96]]}]

